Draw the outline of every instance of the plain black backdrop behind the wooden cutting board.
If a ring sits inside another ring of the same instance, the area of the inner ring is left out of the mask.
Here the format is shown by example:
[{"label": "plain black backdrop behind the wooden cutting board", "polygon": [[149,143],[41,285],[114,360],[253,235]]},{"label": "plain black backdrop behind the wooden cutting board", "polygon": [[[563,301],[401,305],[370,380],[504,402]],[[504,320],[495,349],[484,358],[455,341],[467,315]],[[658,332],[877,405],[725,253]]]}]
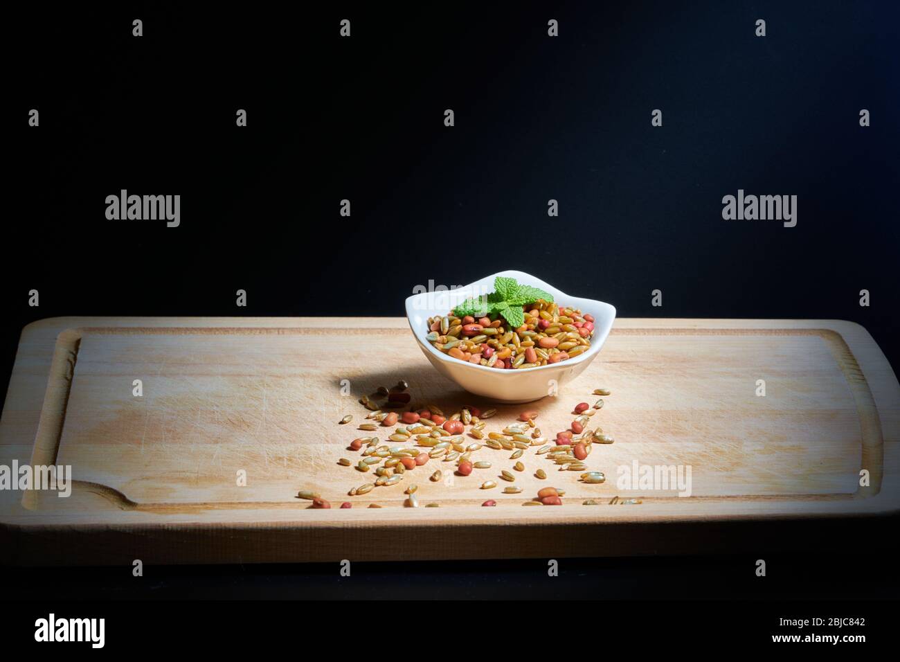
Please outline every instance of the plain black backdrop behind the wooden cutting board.
[{"label": "plain black backdrop behind the wooden cutting board", "polygon": [[[625,317],[852,320],[900,365],[896,3],[299,6],[7,14],[0,383],[23,325],[44,317],[398,316],[417,284],[503,268]],[[350,39],[338,36],[342,18]],[[40,128],[27,125],[32,107]],[[105,196],[121,188],[182,195],[181,226],[107,221]],[[724,221],[722,196],[738,188],[797,195],[797,227]],[[550,198],[559,218],[546,215]],[[40,308],[28,306],[32,288]],[[896,520],[822,526],[874,541],[883,556],[844,549],[839,566],[875,567],[887,579],[866,590],[896,595],[896,543],[881,542]],[[785,559],[815,568],[808,552]],[[662,593],[661,576],[687,573],[701,596],[740,593],[728,577],[745,562],[582,559],[573,572],[624,577],[608,597]],[[401,594],[429,583],[465,594],[458,578],[473,573],[521,587],[504,567],[374,574]],[[320,585],[315,567],[167,572],[157,588],[174,586],[169,596],[183,585],[274,595],[285,583],[354,594]],[[772,584],[816,594],[822,575],[806,573]],[[135,591],[117,576],[78,571],[52,590]],[[828,576],[838,593],[858,588],[850,571]]]}]

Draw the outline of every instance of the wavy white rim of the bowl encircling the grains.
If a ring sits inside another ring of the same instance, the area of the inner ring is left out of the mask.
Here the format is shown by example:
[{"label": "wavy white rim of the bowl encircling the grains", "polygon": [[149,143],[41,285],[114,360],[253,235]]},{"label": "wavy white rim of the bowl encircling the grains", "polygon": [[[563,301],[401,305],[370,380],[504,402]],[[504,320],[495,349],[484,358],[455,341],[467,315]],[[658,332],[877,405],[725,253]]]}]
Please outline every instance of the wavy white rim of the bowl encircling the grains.
[{"label": "wavy white rim of the bowl encircling the grains", "polygon": [[[575,358],[567,358],[564,361],[560,361],[559,363],[548,364],[546,366],[536,366],[536,367],[525,367],[518,368],[517,370],[499,370],[495,367],[482,366],[480,364],[468,363],[466,361],[461,361],[458,358],[453,358],[448,356],[444,352],[435,349],[435,346],[432,345],[428,340],[426,340],[425,336],[428,335],[428,332],[425,329],[417,329],[416,325],[413,323],[412,316],[414,313],[420,313],[419,309],[414,308],[414,304],[417,300],[422,299],[424,297],[428,297],[429,295],[434,295],[433,292],[420,292],[415,295],[408,296],[406,298],[406,320],[410,324],[410,331],[412,331],[413,336],[415,336],[416,340],[419,342],[419,346],[425,349],[431,356],[439,358],[441,361],[459,367],[468,367],[477,370],[485,370],[491,375],[498,376],[501,379],[509,379],[514,375],[523,375],[523,374],[532,374],[537,370],[547,370],[547,369],[564,369],[568,367],[577,366],[580,363],[585,361],[590,361],[592,358],[596,357],[599,353],[600,349],[603,347],[603,344],[606,342],[609,331],[612,329],[613,322],[616,321],[616,306],[613,304],[608,304],[605,301],[599,301],[599,299],[589,299],[583,296],[572,296],[568,295],[563,290],[558,287],[554,287],[549,283],[541,280],[536,276],[532,276],[531,274],[527,274],[524,271],[518,271],[516,269],[507,269],[505,271],[498,271],[497,273],[491,274],[490,276],[485,276],[479,278],[478,280],[469,283],[468,285],[458,287],[455,290],[448,291],[448,295],[451,298],[458,298],[459,301],[463,301],[469,294],[471,294],[476,287],[482,286],[482,284],[490,282],[491,288],[493,287],[494,278],[499,276],[511,277],[515,278],[519,283],[524,283],[526,285],[537,286],[541,289],[546,290],[550,294],[554,295],[554,301],[557,301],[557,296],[561,299],[569,299],[569,300],[579,300],[581,302],[589,302],[591,305],[596,305],[598,312],[595,313],[593,311],[589,311],[585,309],[584,304],[580,304],[581,310],[585,313],[590,313],[595,315],[595,322],[599,319],[597,316],[598,313],[603,316],[605,321],[603,325],[602,334],[600,335],[599,342],[591,342],[590,349],[581,355]],[[457,293],[455,296],[452,293]],[[426,308],[426,310],[430,310]],[[608,322],[606,320],[608,319]]]}]

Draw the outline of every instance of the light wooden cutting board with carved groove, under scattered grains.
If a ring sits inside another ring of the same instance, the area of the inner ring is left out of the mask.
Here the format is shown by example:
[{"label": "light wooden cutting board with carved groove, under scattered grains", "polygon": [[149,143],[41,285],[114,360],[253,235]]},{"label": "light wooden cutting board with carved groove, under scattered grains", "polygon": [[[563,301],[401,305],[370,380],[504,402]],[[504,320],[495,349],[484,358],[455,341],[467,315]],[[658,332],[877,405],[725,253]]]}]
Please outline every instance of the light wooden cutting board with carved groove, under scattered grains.
[{"label": "light wooden cutting board with carved groove, under scattered grains", "polygon": [[[653,551],[689,552],[709,540],[653,527],[900,508],[900,386],[851,322],[620,319],[599,358],[556,397],[497,406],[487,421],[486,431],[500,431],[527,406],[553,438],[574,404],[610,389],[591,425],[616,441],[587,460],[606,473],[602,485],[557,471],[535,448],[521,458],[522,494],[501,494],[509,484],[500,469],[515,460],[485,448],[475,459],[492,467],[473,476],[431,482],[438,468],[453,475],[452,463],[433,459],[399,485],[347,496],[374,477],[338,464],[358,459],[347,444],[388,433],[356,429],[368,413],[358,399],[399,379],[413,402],[446,412],[491,405],[439,376],[404,319],[34,322],[0,420],[0,465],[70,465],[75,483],[68,498],[0,491],[3,560],[555,558],[646,553],[642,531],[653,531]],[[348,413],[353,422],[339,425]],[[644,466],[690,467],[691,495],[618,482]],[[860,486],[861,469],[869,485]],[[485,480],[498,487],[479,489]],[[413,482],[419,503],[440,506],[406,507]],[[563,506],[521,505],[547,485],[565,489]],[[300,489],[333,508],[310,509]],[[641,503],[610,504],[616,496]],[[489,498],[497,507],[481,506]],[[338,509],[344,501],[353,508]],[[631,535],[609,536],[617,524]]]}]

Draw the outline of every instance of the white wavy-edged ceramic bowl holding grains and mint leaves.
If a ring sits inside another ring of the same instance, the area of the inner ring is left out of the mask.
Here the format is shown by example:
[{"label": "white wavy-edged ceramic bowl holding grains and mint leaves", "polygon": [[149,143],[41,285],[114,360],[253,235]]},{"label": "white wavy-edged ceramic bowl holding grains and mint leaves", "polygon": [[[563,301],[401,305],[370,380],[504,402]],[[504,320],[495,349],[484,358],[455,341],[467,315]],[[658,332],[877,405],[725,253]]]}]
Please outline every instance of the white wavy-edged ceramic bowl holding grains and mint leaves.
[{"label": "white wavy-edged ceramic bowl holding grains and mint leaves", "polygon": [[[540,287],[554,295],[554,302],[572,305],[581,308],[582,313],[593,315],[594,335],[590,339],[590,348],[577,357],[567,358],[553,365],[503,370],[453,358],[436,349],[426,340],[429,332],[429,317],[446,315],[468,297],[492,292],[494,278],[498,276],[515,278],[522,285]],[[521,271],[500,271],[464,287],[412,295],[406,300],[406,316],[422,352],[442,375],[449,377],[466,391],[483,395],[495,402],[529,403],[545,397],[545,395],[555,394],[565,382],[581,375],[584,368],[588,367],[594,358],[597,358],[600,348],[607,340],[613,320],[616,319],[616,308],[602,301],[567,295],[554,286],[546,284],[540,278]]]}]

